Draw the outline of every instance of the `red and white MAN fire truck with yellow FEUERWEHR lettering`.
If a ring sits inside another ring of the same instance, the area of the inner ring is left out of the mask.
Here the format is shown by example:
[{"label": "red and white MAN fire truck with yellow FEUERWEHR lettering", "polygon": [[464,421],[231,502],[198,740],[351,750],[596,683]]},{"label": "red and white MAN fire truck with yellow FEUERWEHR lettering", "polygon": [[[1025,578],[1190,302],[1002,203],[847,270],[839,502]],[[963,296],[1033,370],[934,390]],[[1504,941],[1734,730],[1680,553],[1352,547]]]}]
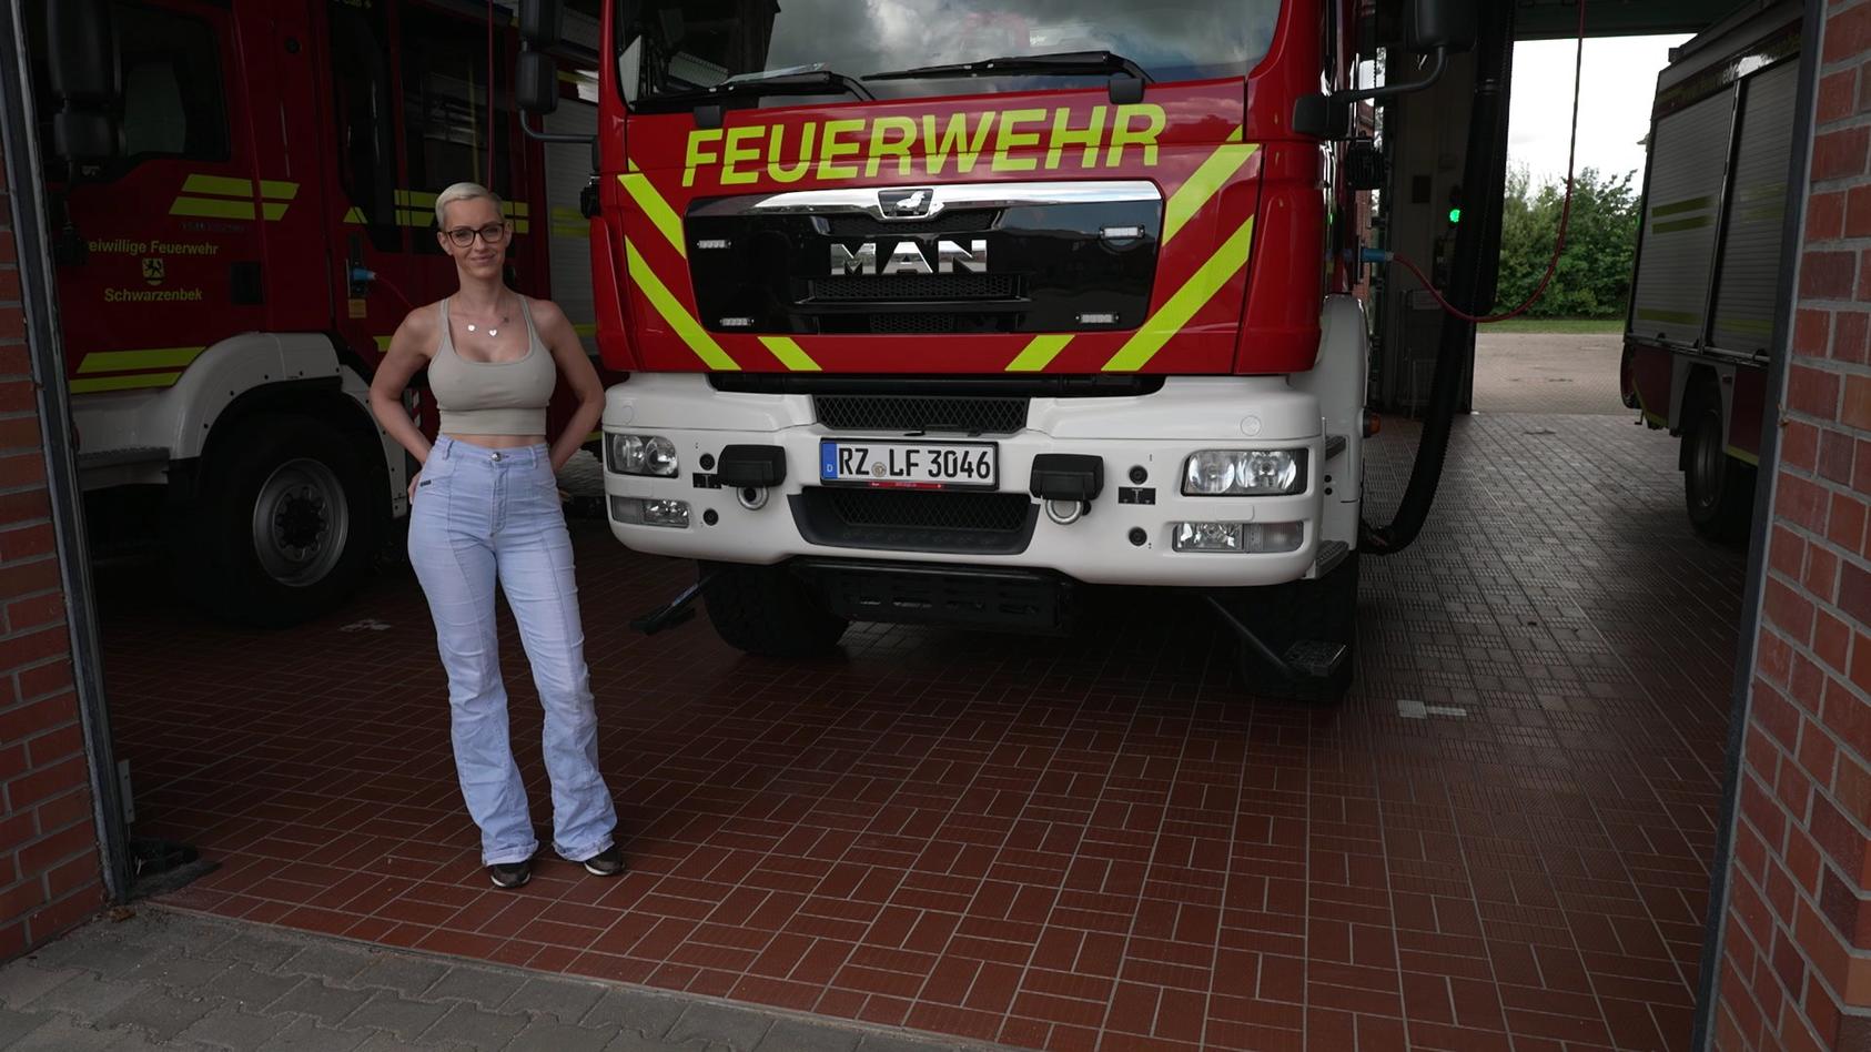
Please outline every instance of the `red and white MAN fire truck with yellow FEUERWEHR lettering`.
[{"label": "red and white MAN fire truck with yellow FEUERWEHR lettering", "polygon": [[[1418,0],[1413,43],[1458,7]],[[696,560],[754,653],[853,620],[1059,631],[1078,586],[1169,586],[1261,672],[1342,691],[1355,9],[604,0],[614,533]],[[520,11],[548,114],[559,4]]]}]

